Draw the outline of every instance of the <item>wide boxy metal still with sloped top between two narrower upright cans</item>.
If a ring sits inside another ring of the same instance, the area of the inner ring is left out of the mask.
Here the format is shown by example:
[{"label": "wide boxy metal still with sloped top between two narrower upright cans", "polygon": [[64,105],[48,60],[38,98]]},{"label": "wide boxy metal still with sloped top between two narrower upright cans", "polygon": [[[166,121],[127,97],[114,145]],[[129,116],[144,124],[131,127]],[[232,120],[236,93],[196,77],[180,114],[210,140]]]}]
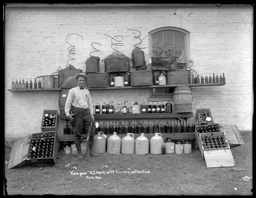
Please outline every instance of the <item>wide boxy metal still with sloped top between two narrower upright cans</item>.
[{"label": "wide boxy metal still with sloped top between two narrower upright cans", "polygon": [[130,61],[129,58],[122,54],[108,55],[103,59],[105,65],[105,72],[129,72]]}]

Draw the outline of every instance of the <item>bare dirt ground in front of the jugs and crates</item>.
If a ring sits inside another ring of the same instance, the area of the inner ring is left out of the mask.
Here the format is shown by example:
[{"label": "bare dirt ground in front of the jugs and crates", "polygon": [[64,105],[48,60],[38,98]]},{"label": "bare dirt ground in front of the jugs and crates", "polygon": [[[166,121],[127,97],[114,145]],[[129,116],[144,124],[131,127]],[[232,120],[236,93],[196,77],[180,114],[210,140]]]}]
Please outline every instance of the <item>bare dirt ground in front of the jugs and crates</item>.
[{"label": "bare dirt ground in front of the jugs and crates", "polygon": [[207,168],[194,149],[191,154],[167,155],[105,152],[91,161],[60,149],[54,166],[7,170],[11,145],[5,144],[5,194],[254,195],[253,180],[242,179],[253,176],[252,131],[241,135],[245,145],[231,147],[236,166],[219,168]]}]

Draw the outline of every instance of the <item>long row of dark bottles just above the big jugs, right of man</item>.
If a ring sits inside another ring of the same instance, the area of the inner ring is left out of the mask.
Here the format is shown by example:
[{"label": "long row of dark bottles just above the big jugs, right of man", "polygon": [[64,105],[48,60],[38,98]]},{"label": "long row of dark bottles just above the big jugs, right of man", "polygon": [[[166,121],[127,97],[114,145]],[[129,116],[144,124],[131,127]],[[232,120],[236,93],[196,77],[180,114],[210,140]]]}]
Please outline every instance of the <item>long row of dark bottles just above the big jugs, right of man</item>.
[{"label": "long row of dark bottles just above the big jugs, right of man", "polygon": [[99,121],[98,131],[102,131],[104,134],[113,134],[116,132],[117,134],[148,134],[148,133],[193,133],[195,127],[198,126],[198,123],[195,124],[194,121],[190,120],[189,122],[186,120],[183,121],[173,121],[172,123],[169,120],[161,120],[161,123],[158,123],[158,120],[153,123],[153,121]]}]

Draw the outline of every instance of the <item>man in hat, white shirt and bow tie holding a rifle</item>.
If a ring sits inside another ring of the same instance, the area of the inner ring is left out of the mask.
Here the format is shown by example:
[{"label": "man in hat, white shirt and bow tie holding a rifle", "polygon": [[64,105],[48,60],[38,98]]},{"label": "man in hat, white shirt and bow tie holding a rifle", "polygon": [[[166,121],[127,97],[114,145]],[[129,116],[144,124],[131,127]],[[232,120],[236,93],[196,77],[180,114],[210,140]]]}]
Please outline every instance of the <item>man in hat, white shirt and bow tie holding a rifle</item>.
[{"label": "man in hat, white shirt and bow tie holding a rifle", "polygon": [[88,134],[90,123],[93,122],[89,151],[90,156],[98,157],[98,154],[92,151],[94,145],[94,106],[89,90],[84,86],[89,80],[89,77],[83,73],[77,73],[75,81],[78,86],[69,90],[69,94],[65,103],[65,114],[72,121],[72,130],[74,132],[76,147],[78,151],[78,159],[83,159],[81,152],[81,136]]}]

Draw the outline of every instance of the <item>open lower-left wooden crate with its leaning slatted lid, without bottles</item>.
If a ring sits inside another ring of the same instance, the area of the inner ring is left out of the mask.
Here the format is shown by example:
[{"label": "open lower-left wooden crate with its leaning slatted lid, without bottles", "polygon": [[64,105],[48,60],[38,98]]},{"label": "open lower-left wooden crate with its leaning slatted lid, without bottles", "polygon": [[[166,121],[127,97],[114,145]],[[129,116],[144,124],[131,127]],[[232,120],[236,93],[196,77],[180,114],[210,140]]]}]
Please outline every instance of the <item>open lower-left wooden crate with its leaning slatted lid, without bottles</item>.
[{"label": "open lower-left wooden crate with its leaning slatted lid, without bottles", "polygon": [[[54,133],[54,135],[52,135],[53,133]],[[47,134],[52,137],[32,138],[35,135],[41,136],[42,134]],[[54,139],[52,157],[30,158],[30,148],[31,148],[32,141],[35,142],[35,141],[39,141],[39,140],[51,140],[51,139]],[[28,166],[54,165],[57,163],[58,152],[59,152],[59,139],[58,139],[58,135],[57,135],[56,131],[27,135],[24,138],[15,142],[15,144],[11,150],[11,153],[10,153],[8,169],[19,168],[19,167],[23,167],[25,165],[28,165]]]}]

